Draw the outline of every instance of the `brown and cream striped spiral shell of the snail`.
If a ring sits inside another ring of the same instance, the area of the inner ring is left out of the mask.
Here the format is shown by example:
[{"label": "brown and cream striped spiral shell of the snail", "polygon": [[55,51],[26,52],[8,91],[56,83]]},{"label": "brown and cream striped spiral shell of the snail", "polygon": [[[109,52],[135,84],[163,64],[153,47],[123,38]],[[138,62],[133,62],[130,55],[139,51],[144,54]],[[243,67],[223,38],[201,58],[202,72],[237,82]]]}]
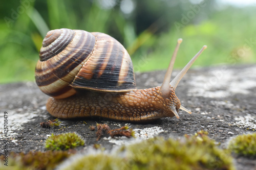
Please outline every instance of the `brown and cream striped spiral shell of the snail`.
[{"label": "brown and cream striped spiral shell of the snail", "polygon": [[131,58],[123,45],[103,33],[59,29],[42,42],[35,80],[56,99],[75,89],[124,92],[136,89]]}]

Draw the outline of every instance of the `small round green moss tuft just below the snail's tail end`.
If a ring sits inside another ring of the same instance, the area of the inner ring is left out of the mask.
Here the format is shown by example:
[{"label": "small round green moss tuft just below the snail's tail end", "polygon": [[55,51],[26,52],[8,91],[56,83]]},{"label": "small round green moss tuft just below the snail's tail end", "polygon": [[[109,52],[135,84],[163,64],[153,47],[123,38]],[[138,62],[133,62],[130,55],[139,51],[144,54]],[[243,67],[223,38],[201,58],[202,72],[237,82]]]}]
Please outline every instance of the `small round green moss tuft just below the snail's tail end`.
[{"label": "small round green moss tuft just below the snail's tail end", "polygon": [[47,150],[68,150],[84,145],[84,140],[76,133],[52,134],[46,140]]}]

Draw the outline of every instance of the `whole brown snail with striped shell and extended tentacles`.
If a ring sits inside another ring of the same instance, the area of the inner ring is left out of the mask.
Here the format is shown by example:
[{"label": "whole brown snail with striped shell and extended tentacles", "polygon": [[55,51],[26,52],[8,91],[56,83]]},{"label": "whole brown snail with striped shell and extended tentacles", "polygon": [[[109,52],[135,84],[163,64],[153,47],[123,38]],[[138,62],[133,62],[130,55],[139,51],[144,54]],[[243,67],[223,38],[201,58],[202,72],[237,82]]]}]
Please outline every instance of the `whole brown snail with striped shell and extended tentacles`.
[{"label": "whole brown snail with striped shell and extended tentacles", "polygon": [[131,58],[113,37],[98,32],[58,29],[42,41],[35,80],[51,97],[47,111],[59,118],[105,117],[126,122],[145,122],[161,117],[179,118],[175,89],[189,67],[207,47],[191,59],[170,82],[182,39],[178,39],[163,84],[136,89]]}]

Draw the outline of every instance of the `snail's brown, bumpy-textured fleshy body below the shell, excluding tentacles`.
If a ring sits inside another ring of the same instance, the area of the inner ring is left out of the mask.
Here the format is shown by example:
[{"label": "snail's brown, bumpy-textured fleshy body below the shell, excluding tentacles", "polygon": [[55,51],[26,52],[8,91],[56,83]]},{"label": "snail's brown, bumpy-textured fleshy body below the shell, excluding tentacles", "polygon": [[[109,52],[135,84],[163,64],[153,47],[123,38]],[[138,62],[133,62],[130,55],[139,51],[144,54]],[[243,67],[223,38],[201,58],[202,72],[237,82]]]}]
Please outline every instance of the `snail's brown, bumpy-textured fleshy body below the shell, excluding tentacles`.
[{"label": "snail's brown, bumpy-textured fleshy body below the shell, excluding tentacles", "polygon": [[127,122],[145,122],[161,117],[173,117],[170,107],[179,111],[180,101],[170,87],[163,99],[160,87],[138,89],[126,93],[79,92],[66,99],[49,98],[48,112],[59,118],[105,117]]}]

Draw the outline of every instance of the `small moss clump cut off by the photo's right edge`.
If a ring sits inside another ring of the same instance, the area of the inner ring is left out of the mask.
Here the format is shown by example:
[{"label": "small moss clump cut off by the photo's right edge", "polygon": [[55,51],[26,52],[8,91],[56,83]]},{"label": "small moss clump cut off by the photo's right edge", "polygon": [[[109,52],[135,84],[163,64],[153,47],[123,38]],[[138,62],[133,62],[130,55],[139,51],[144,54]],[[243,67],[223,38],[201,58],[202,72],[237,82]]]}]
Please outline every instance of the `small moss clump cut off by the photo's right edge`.
[{"label": "small moss clump cut off by the photo's right edge", "polygon": [[241,156],[256,158],[256,133],[238,135],[229,142],[228,149]]}]

